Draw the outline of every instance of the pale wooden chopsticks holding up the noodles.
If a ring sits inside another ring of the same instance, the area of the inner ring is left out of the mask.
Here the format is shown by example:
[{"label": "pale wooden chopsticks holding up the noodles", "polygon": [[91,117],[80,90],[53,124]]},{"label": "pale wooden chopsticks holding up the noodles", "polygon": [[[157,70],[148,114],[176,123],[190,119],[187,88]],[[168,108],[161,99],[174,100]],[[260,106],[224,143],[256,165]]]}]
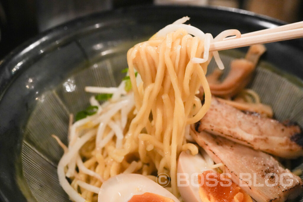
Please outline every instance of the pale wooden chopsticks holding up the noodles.
[{"label": "pale wooden chopsticks holding up the noodles", "polygon": [[[303,37],[303,21],[275,28],[268,28],[241,35],[241,38],[225,38],[210,45],[210,51],[221,51],[255,44],[264,44]],[[227,40],[228,39],[228,40]]]}]

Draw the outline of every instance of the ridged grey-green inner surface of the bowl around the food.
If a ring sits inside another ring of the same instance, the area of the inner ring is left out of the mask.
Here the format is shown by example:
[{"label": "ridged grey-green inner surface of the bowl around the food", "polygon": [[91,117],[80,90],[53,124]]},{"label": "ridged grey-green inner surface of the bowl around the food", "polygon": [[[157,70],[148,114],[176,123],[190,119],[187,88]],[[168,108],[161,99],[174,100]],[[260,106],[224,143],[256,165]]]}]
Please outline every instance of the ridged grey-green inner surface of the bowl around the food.
[{"label": "ridged grey-green inner surface of the bowl around the food", "polygon": [[[125,51],[100,59],[38,97],[38,103],[25,127],[22,146],[23,174],[37,201],[69,201],[58,183],[56,172],[63,150],[51,135],[56,134],[67,144],[68,114],[85,109],[93,95],[84,91],[85,86],[117,86],[124,77],[121,70],[127,64]],[[237,51],[221,53],[225,75],[230,69],[230,61],[241,55],[243,53]],[[214,68],[217,67],[212,60],[208,71],[211,72]],[[249,87],[260,95],[263,103],[273,107],[275,118],[280,121],[295,121],[303,126],[302,89],[274,73],[273,69],[275,68],[262,61]],[[294,165],[295,162],[291,167],[294,168]]]}]

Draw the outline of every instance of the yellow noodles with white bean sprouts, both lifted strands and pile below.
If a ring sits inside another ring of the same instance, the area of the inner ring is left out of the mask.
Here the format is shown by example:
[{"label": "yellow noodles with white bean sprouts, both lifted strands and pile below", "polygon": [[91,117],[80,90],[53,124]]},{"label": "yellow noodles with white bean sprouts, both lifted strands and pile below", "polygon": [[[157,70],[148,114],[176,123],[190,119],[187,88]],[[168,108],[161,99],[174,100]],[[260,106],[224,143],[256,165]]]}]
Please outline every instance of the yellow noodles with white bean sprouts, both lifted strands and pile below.
[{"label": "yellow noodles with white bean sprouts, both lifted strands and pile below", "polygon": [[[72,200],[96,201],[102,182],[120,173],[143,174],[154,181],[155,173],[165,173],[171,180],[165,188],[179,196],[177,158],[184,150],[198,153],[198,147],[187,141],[189,125],[199,121],[211,104],[205,74],[212,55],[223,68],[217,52],[209,52],[210,43],[230,35],[238,37],[233,30],[214,39],[181,24],[188,19],[177,20],[129,49],[132,91],[125,91],[125,81],[118,87],[85,88],[91,93],[111,93],[112,98],[103,104],[90,98],[97,113],[70,126],[68,148],[62,145],[65,153],[58,164],[58,177]],[[196,97],[200,86],[204,104]],[[211,159],[207,161],[213,166]]]}]

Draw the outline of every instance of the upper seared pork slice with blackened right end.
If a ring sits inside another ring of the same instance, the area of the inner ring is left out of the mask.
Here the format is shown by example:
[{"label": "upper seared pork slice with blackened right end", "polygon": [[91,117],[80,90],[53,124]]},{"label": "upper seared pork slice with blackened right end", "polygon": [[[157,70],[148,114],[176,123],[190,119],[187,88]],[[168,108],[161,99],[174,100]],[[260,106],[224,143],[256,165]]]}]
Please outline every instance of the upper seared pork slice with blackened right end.
[{"label": "upper seared pork slice with blackened right end", "polygon": [[303,135],[297,125],[286,125],[254,113],[244,113],[212,98],[211,107],[196,123],[207,131],[240,144],[284,158],[303,155]]}]

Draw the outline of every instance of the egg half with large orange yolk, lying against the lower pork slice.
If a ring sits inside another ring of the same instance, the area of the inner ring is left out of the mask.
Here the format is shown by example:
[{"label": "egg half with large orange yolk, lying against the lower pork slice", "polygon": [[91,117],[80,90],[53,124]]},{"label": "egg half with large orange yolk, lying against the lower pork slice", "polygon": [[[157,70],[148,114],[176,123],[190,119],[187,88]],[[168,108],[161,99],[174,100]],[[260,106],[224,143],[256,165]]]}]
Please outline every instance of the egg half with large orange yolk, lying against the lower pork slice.
[{"label": "egg half with large orange yolk, lying against the lower pork slice", "polygon": [[213,165],[210,157],[205,156],[187,151],[179,156],[178,188],[184,202],[252,202],[240,187],[213,169],[222,164]]}]

